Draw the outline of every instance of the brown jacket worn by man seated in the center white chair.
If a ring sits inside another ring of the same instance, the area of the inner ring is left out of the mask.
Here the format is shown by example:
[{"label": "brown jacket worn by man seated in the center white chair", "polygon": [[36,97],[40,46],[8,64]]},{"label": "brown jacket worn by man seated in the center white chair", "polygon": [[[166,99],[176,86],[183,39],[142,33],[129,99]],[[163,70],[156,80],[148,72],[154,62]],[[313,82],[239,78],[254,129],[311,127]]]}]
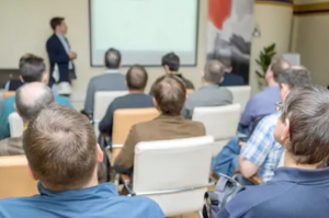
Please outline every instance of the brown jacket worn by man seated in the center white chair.
[{"label": "brown jacket worn by man seated in the center white chair", "polygon": [[[115,159],[115,171],[121,173],[132,169],[135,147],[140,141],[169,140],[205,136],[202,123],[184,119],[182,116],[160,115],[154,121],[132,127],[124,147]],[[120,172],[121,171],[121,172]]]}]

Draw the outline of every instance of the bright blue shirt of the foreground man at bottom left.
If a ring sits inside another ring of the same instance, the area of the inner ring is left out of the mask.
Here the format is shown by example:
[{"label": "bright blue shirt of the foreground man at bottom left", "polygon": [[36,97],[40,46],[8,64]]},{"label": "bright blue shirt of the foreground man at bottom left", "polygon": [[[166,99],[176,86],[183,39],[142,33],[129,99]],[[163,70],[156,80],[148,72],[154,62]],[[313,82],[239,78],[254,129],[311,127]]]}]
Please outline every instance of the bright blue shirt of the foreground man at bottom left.
[{"label": "bright blue shirt of the foreground man at bottom left", "polygon": [[113,183],[0,200],[1,218],[164,218],[159,205],[146,197],[120,196]]}]

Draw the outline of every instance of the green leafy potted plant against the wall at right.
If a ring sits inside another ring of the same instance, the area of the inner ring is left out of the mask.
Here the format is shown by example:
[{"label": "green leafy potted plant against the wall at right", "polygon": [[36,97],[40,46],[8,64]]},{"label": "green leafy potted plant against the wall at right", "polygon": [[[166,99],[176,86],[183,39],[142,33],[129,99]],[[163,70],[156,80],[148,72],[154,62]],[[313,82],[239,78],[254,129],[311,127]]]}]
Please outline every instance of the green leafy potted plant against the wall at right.
[{"label": "green leafy potted plant against the wall at right", "polygon": [[258,76],[258,85],[262,90],[264,87],[266,87],[266,71],[269,66],[271,65],[272,58],[276,55],[275,53],[275,43],[264,47],[263,50],[259,54],[259,59],[256,60],[256,62],[261,67],[262,71],[256,70],[256,73]]}]

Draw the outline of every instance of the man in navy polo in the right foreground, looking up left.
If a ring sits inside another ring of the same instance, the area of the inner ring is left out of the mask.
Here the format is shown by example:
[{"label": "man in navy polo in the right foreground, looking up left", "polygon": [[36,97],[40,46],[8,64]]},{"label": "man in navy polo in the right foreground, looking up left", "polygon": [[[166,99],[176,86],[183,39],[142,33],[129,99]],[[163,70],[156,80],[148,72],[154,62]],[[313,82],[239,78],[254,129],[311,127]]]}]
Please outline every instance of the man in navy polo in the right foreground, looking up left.
[{"label": "man in navy polo in the right foreground, looking up left", "polygon": [[247,188],[218,218],[327,218],[329,214],[329,91],[294,89],[280,106],[274,138],[284,148],[284,168],[272,181]]}]

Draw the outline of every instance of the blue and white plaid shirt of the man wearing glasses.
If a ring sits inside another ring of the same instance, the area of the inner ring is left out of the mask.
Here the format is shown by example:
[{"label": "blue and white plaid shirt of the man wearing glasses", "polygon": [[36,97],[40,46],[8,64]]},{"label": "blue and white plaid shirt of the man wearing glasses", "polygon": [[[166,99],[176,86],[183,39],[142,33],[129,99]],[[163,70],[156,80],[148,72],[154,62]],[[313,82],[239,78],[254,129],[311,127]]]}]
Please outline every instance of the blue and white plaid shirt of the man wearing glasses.
[{"label": "blue and white plaid shirt of the man wearing glasses", "polygon": [[274,139],[279,116],[276,113],[262,118],[241,151],[245,158],[260,167],[258,175],[264,182],[272,180],[283,152],[283,147]]}]

